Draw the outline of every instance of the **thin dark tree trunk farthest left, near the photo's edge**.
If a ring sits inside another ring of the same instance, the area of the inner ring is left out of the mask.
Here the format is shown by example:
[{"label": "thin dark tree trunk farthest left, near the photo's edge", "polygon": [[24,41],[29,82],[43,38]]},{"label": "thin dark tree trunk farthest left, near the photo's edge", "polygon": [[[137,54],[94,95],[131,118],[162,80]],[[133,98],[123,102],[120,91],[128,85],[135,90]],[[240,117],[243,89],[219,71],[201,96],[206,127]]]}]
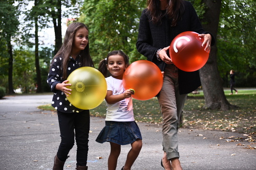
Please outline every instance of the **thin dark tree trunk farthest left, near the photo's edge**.
[{"label": "thin dark tree trunk farthest left, near the photo's edge", "polygon": [[8,53],[9,53],[9,68],[8,68],[8,93],[14,94],[13,85],[12,85],[12,69],[13,69],[13,55],[12,55],[12,45],[11,41],[7,42]]}]

